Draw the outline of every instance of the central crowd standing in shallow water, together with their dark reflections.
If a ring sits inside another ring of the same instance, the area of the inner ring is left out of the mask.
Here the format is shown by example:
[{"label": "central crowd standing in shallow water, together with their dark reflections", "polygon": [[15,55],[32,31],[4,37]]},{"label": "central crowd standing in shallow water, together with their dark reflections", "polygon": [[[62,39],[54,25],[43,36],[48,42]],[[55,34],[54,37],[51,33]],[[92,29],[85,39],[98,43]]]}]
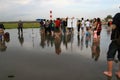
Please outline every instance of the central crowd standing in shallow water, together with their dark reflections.
[{"label": "central crowd standing in shallow water, together with their dark reflections", "polygon": [[[41,42],[40,45],[44,48],[46,43],[47,45],[51,44],[53,46],[53,41],[55,43],[55,52],[57,54],[61,53],[60,44],[63,41],[63,44],[67,46],[67,43],[72,40],[72,35],[74,34],[75,29],[77,29],[78,34],[78,45],[81,41],[81,49],[82,49],[82,41],[85,35],[85,44],[86,48],[88,47],[89,41],[91,40],[91,36],[93,36],[93,45],[91,47],[93,58],[98,60],[100,54],[100,34],[102,30],[102,22],[100,18],[94,18],[93,20],[77,20],[77,28],[68,28],[67,27],[67,19],[63,20],[57,18],[56,20],[42,20],[40,22],[40,36]],[[96,32],[96,33],[94,33]],[[81,40],[79,40],[81,34]],[[48,39],[47,39],[48,38]],[[47,42],[46,42],[47,41]],[[58,45],[59,44],[59,45]],[[97,54],[98,53],[98,54]]]}]

